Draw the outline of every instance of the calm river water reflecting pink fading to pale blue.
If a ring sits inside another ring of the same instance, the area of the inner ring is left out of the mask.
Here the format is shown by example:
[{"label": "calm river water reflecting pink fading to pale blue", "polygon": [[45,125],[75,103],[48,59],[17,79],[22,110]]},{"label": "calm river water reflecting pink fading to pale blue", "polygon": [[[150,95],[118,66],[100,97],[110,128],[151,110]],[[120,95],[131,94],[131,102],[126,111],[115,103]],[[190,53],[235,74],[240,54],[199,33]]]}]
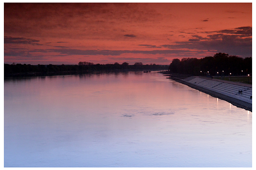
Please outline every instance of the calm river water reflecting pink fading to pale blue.
[{"label": "calm river water reflecting pink fading to pale blue", "polygon": [[5,79],[4,167],[252,167],[252,112],[155,72]]}]

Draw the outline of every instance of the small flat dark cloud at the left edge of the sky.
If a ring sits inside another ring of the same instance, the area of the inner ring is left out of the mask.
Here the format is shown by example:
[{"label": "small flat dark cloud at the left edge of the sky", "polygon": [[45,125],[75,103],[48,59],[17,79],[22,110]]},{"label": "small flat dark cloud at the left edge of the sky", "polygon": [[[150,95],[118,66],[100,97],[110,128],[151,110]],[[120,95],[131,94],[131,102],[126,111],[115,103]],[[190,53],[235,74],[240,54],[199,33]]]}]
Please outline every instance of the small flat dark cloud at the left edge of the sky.
[{"label": "small flat dark cloud at the left edge of the sky", "polygon": [[4,44],[31,44],[31,45],[38,45],[41,46],[42,44],[39,44],[39,40],[34,40],[30,38],[24,38],[24,37],[8,37],[4,36]]}]

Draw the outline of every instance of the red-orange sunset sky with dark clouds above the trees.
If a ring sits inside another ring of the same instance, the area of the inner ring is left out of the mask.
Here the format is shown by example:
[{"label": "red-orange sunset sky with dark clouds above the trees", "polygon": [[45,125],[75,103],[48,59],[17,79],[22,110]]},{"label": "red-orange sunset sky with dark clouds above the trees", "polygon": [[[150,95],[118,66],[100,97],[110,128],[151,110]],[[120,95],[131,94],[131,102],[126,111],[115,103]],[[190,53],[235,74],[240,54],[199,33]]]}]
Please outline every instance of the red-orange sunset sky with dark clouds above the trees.
[{"label": "red-orange sunset sky with dark clouds above the trees", "polygon": [[4,63],[252,57],[252,3],[4,3]]}]

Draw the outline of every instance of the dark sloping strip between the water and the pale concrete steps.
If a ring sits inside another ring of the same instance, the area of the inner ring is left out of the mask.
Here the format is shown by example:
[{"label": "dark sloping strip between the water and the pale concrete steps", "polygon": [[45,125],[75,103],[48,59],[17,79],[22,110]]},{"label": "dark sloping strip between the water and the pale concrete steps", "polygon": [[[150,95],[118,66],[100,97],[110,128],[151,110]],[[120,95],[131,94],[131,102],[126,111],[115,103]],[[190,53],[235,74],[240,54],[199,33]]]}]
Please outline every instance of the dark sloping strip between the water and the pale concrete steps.
[{"label": "dark sloping strip between the water and the pale concrete steps", "polygon": [[[167,74],[167,73],[164,73],[164,74],[165,75],[170,75],[170,74]],[[174,80],[176,82],[185,84],[185,85],[187,85],[187,86],[189,86],[189,87],[191,87],[193,89],[196,89],[196,90],[198,90],[200,92],[206,93],[206,94],[208,94],[208,95],[210,95],[212,97],[217,97],[217,98],[223,99],[223,100],[233,104],[236,107],[239,107],[239,108],[242,108],[242,109],[245,109],[245,110],[253,112],[253,105],[251,103],[248,103],[248,102],[236,99],[236,98],[228,97],[228,96],[225,96],[225,95],[223,95],[221,93],[213,92],[211,90],[208,90],[208,89],[196,86],[194,84],[191,84],[191,83],[183,80],[184,78],[188,78],[188,77],[190,77],[190,75],[176,74],[174,76],[167,77],[167,78],[170,78],[170,79],[172,79],[172,80]],[[230,82],[230,84],[232,84],[232,83]]]}]

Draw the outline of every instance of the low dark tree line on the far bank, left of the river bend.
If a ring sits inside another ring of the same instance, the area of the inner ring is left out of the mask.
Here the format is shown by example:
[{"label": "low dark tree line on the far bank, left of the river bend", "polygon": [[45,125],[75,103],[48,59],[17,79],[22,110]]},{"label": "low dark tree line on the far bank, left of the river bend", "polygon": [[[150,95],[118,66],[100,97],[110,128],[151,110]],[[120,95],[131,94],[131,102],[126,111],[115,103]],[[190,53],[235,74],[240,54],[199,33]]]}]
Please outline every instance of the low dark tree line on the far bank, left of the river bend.
[{"label": "low dark tree line on the far bank, left of the river bend", "polygon": [[94,71],[157,71],[167,70],[168,65],[147,64],[141,62],[129,65],[123,64],[94,64],[90,62],[79,62],[78,65],[31,65],[31,64],[4,64],[4,77],[9,76],[42,76],[90,73]]}]

